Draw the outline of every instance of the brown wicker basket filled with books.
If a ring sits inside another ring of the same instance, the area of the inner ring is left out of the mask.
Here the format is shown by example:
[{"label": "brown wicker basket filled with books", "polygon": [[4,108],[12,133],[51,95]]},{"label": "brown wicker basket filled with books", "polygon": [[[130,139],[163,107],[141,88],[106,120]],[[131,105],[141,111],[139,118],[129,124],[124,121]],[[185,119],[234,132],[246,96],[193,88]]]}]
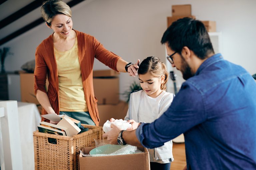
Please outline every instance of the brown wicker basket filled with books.
[{"label": "brown wicker basket filled with books", "polygon": [[[83,125],[88,131],[74,135],[33,132],[35,169],[38,170],[79,170],[79,150],[95,146],[94,139],[102,138],[102,127]],[[56,144],[48,139],[56,140]]]}]

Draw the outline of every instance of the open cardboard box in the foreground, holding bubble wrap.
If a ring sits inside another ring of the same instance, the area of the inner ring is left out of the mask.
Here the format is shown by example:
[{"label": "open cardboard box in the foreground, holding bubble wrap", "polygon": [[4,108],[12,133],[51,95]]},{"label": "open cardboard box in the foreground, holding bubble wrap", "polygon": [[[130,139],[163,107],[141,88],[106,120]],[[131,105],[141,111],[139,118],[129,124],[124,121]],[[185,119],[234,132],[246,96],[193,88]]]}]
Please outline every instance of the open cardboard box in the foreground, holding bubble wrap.
[{"label": "open cardboard box in the foreground, holding bubble wrap", "polygon": [[[83,148],[84,154],[95,147]],[[115,155],[115,156],[97,156],[97,157],[82,157],[79,155],[80,170],[150,170],[149,153],[144,148],[144,153]]]}]

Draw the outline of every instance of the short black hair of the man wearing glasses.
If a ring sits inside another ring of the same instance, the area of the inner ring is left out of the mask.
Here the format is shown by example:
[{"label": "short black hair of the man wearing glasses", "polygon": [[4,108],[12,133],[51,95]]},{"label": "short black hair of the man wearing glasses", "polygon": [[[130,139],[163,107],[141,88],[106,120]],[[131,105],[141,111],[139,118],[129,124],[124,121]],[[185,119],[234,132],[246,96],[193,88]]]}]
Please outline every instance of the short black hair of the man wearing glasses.
[{"label": "short black hair of the man wearing glasses", "polygon": [[182,48],[187,46],[200,59],[207,58],[210,53],[214,53],[204,24],[187,17],[173,22],[165,31],[161,43],[168,43],[168,46],[179,54]]}]

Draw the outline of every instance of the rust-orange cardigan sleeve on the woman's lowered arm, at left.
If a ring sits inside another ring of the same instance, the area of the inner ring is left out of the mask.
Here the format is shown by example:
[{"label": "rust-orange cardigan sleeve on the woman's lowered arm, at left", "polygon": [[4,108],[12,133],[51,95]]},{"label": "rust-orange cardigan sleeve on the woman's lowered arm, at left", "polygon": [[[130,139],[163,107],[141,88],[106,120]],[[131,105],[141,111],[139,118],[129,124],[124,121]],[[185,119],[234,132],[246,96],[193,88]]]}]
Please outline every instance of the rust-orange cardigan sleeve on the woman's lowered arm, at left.
[{"label": "rust-orange cardigan sleeve on the woman's lowered arm, at left", "polygon": [[41,90],[42,92],[47,93],[45,89],[47,65],[38,47],[36,49],[35,60],[36,65],[34,71],[34,93],[36,95],[37,90]]}]

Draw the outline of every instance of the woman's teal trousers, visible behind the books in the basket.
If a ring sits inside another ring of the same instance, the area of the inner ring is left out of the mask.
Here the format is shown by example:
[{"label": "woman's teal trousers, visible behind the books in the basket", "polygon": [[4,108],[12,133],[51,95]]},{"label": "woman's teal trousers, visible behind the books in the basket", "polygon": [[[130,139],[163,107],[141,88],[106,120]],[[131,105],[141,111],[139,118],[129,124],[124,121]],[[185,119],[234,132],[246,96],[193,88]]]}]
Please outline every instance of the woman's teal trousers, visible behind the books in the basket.
[{"label": "woman's teal trousers, visible behind the books in the basket", "polygon": [[[93,122],[89,112],[63,112],[63,111],[61,111],[60,115],[67,115],[73,119],[80,121],[81,124],[96,126],[95,123]],[[88,130],[88,128],[84,128],[79,133],[85,132],[87,130]]]}]

